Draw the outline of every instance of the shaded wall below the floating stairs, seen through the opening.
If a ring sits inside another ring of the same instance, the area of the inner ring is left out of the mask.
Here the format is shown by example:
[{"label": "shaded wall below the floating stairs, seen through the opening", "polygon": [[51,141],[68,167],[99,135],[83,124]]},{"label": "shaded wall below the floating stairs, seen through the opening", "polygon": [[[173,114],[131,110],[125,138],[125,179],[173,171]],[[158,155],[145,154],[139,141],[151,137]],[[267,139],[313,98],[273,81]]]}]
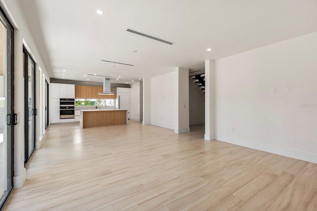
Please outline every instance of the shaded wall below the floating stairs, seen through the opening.
[{"label": "shaded wall below the floating stairs, seen through the opening", "polygon": [[189,125],[205,124],[205,94],[189,77]]}]

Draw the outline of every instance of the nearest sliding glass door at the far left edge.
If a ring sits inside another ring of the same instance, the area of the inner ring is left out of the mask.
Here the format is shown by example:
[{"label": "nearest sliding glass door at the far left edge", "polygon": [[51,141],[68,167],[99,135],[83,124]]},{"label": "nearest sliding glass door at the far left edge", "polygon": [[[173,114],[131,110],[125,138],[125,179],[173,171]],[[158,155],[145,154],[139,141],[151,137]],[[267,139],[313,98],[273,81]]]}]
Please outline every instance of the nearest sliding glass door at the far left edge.
[{"label": "nearest sliding glass door at the far left edge", "polygon": [[13,189],[13,28],[0,8],[0,210]]}]

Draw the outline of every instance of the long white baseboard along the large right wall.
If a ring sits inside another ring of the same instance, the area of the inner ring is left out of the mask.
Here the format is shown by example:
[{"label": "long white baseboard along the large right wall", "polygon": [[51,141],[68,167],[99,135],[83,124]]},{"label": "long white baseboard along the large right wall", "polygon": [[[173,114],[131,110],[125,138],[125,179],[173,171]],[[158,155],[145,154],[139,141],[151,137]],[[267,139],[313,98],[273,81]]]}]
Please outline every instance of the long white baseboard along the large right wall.
[{"label": "long white baseboard along the large right wall", "polygon": [[223,141],[225,140],[225,138],[221,138],[217,136],[215,137],[215,140],[230,143],[230,144],[235,144],[235,145],[239,145],[239,146],[243,146],[243,147],[247,147],[247,148],[251,148],[255,150],[260,150],[260,151],[264,151],[267,153],[272,153],[272,154],[276,154],[280,156],[285,156],[288,158],[295,158],[295,159],[300,159],[300,160],[304,160],[308,162],[317,163],[317,154],[298,151],[294,149],[285,149],[279,146],[269,146],[266,144],[264,145],[259,143],[242,143],[241,141],[234,141],[234,140]]}]

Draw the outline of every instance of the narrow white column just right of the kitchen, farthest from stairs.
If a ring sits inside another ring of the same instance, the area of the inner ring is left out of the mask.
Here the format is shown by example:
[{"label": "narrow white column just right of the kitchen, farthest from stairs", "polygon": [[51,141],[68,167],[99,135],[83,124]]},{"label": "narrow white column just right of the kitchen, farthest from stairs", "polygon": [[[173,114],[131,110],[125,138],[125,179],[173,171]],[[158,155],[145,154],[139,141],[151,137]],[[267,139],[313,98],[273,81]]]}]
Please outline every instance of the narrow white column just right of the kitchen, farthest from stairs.
[{"label": "narrow white column just right of the kitchen, farthest from stairs", "polygon": [[151,78],[143,78],[143,121],[151,124]]}]

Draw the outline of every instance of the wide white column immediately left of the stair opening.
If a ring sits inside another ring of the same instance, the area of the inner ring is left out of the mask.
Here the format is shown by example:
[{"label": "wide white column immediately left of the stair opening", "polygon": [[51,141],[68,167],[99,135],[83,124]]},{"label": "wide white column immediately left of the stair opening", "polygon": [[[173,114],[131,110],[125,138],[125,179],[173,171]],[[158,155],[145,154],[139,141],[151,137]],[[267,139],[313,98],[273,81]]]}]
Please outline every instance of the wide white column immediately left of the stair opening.
[{"label": "wide white column immediately left of the stair opening", "polygon": [[175,133],[189,132],[189,69],[176,67]]}]

